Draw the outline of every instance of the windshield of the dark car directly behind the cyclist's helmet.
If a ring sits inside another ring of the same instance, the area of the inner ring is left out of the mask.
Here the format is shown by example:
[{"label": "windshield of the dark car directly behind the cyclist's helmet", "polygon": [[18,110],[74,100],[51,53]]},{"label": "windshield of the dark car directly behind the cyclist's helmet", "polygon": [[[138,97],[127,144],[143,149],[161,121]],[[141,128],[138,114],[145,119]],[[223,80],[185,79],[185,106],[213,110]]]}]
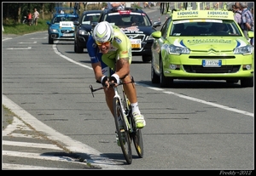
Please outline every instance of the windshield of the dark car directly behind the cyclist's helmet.
[{"label": "windshield of the dark car directly behind the cyclist's helmet", "polygon": [[132,24],[136,24],[136,26],[151,26],[150,20],[143,14],[113,13],[106,15],[103,20],[115,26],[133,26]]}]

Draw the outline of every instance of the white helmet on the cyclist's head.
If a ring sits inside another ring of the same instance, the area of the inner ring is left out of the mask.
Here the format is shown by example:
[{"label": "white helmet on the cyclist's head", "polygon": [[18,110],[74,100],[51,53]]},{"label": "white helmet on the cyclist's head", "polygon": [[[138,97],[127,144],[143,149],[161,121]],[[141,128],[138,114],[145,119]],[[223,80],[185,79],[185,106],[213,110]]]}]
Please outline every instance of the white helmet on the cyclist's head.
[{"label": "white helmet on the cyclist's head", "polygon": [[108,21],[102,21],[95,26],[92,35],[98,43],[109,42],[113,38],[113,27],[108,23]]}]

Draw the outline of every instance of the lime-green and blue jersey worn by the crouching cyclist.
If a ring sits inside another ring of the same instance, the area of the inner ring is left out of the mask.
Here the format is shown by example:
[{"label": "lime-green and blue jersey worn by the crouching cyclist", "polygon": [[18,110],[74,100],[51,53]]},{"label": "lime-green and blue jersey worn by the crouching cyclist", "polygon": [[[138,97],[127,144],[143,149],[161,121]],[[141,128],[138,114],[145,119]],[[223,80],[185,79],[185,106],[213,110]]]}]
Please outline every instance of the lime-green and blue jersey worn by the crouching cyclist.
[{"label": "lime-green and blue jersey worn by the crouching cyclist", "polygon": [[127,58],[131,64],[131,41],[118,26],[113,26],[113,40],[108,54],[101,53],[92,36],[88,39],[87,51],[90,56],[90,62],[92,64],[101,62],[102,73],[108,77],[114,73],[115,61],[119,60],[119,58]]}]

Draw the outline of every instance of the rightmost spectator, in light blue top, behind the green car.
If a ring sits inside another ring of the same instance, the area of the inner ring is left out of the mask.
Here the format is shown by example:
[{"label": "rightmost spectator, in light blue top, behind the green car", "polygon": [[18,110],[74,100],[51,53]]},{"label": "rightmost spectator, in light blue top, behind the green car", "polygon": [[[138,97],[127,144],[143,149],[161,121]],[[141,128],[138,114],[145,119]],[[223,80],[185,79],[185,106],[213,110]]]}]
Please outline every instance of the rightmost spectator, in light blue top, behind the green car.
[{"label": "rightmost spectator, in light blue top, behind the green car", "polygon": [[249,41],[248,31],[254,31],[253,14],[247,9],[247,3],[240,3],[241,7],[241,30]]}]

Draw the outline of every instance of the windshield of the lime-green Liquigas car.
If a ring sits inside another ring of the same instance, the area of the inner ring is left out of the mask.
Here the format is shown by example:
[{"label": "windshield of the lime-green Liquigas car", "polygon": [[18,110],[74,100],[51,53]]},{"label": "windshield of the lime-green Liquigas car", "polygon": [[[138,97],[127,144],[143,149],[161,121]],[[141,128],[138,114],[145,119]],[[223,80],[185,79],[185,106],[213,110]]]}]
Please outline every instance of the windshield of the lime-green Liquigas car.
[{"label": "windshield of the lime-green Liquigas car", "polygon": [[176,20],[170,36],[239,36],[234,20]]}]

